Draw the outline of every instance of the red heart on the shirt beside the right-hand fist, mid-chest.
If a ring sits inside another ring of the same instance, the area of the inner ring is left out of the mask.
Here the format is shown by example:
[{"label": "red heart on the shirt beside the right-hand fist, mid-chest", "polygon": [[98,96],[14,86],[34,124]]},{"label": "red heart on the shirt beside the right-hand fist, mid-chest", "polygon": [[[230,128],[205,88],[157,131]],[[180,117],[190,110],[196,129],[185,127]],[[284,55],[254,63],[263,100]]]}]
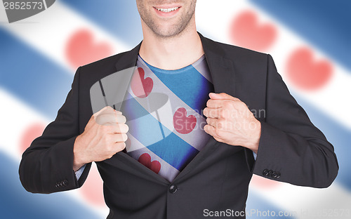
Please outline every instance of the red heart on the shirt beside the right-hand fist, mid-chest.
[{"label": "red heart on the shirt beside the right-hand fist, mid-chest", "polygon": [[173,115],[173,126],[181,134],[190,133],[197,124],[197,118],[193,115],[187,117],[187,110],[180,107]]}]

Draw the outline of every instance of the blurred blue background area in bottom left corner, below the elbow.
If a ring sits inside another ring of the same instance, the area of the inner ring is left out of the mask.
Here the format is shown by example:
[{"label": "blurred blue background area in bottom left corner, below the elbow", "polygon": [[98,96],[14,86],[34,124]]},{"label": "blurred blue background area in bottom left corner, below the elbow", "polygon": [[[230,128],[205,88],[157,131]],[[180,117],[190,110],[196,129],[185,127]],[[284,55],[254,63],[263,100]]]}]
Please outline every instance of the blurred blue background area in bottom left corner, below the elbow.
[{"label": "blurred blue background area in bottom left corner, below the elbow", "polygon": [[67,197],[65,192],[48,195],[25,191],[18,177],[18,164],[1,152],[0,173],[3,176],[0,180],[1,218],[99,218],[87,206]]}]

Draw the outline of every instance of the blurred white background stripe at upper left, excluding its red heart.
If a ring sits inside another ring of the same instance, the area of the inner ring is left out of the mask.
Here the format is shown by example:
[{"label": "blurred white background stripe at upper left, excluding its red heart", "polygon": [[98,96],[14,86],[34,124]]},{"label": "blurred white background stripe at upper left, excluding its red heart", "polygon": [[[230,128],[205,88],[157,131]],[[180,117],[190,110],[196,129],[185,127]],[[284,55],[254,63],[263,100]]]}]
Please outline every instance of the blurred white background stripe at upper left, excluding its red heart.
[{"label": "blurred white background stripe at upper left, excluding its red heart", "polygon": [[[34,23],[28,25],[26,22]],[[109,44],[112,54],[130,49],[60,1],[56,1],[48,10],[27,18],[25,22],[13,22],[2,27],[70,72],[75,69],[67,62],[65,48],[69,37],[79,29],[88,29],[94,34],[96,42]]]}]

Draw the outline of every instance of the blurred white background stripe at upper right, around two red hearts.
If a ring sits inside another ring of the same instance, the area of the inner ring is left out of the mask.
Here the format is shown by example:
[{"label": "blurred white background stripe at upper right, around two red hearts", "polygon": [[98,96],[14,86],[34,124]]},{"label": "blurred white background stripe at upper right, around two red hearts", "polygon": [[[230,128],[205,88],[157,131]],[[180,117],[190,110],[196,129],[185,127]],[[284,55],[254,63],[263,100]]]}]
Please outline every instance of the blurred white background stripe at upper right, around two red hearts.
[{"label": "blurred white background stripe at upper right, around two red hearts", "polygon": [[[216,16],[212,16],[213,11],[220,11]],[[258,14],[258,19],[262,23],[269,22],[277,27],[277,41],[274,42],[270,53],[277,65],[278,72],[282,75],[289,89],[294,93],[298,93],[300,98],[304,98],[307,102],[312,103],[314,107],[327,114],[332,119],[338,121],[339,124],[351,131],[351,74],[346,69],[338,65],[336,60],[328,57],[315,47],[311,47],[307,41],[291,31],[291,29],[282,25],[278,20],[272,18],[269,14],[260,10],[249,1],[244,0],[202,0],[197,1],[197,27],[200,32],[203,30],[204,35],[212,39],[232,44],[229,37],[230,23],[233,18],[243,11],[254,11]],[[286,77],[286,61],[291,53],[300,48],[307,46],[310,48],[317,60],[320,58],[329,60],[333,64],[333,78],[326,86],[316,91],[303,91],[297,88]],[[344,98],[343,98],[344,97]]]}]

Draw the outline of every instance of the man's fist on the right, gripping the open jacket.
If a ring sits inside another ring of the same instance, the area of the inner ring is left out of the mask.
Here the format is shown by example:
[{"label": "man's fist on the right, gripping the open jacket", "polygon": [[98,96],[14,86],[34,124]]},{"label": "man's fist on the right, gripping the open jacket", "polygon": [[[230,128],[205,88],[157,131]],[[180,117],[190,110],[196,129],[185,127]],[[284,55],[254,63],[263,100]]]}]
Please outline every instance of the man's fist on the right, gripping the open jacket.
[{"label": "man's fist on the right, gripping the open jacket", "polygon": [[241,145],[258,151],[260,121],[253,117],[244,102],[226,93],[210,93],[204,109],[207,117],[204,131],[219,142]]}]

